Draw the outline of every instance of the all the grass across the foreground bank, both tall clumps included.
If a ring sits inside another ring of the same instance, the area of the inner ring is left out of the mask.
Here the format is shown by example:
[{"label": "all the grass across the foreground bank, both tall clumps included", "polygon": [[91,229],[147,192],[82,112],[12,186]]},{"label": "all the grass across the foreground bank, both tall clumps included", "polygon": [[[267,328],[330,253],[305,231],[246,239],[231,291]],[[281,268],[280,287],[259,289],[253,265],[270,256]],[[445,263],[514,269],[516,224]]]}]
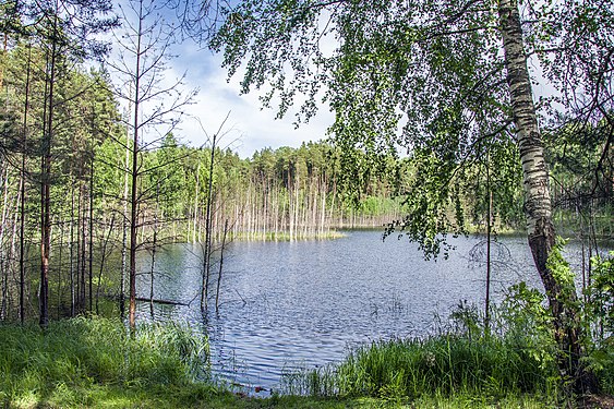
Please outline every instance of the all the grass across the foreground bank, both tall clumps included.
[{"label": "all the grass across the foreground bank, both tall clumps included", "polygon": [[[0,325],[5,408],[555,408],[556,376],[527,342],[446,333],[380,341],[338,366],[294,374],[262,399],[208,382],[207,340],[181,325],[80,317]],[[292,390],[293,388],[293,390]]]}]

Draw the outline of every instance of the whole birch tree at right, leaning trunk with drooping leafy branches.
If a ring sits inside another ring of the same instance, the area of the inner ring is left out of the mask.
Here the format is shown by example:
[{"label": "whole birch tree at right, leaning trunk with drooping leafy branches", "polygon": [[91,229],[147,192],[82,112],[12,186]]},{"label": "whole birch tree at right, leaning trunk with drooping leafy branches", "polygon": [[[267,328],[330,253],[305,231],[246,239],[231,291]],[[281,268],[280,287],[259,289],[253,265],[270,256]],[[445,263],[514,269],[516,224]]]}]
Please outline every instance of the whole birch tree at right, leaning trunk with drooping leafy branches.
[{"label": "whole birch tree at right, leaning trunk with drooping leafy branches", "polygon": [[[594,14],[604,5],[589,3],[566,10],[586,15],[577,9]],[[580,363],[574,282],[562,282],[547,263],[555,230],[527,65],[527,52],[563,28],[550,3],[525,5],[516,0],[243,1],[222,10],[209,46],[224,53],[229,75],[241,72],[241,91],[262,89],[263,105],[277,105],[279,116],[291,111],[298,95],[297,123],[327,104],[336,116],[333,140],[342,152],[366,153],[358,165],[360,155],[341,159],[345,169],[361,169],[353,179],[368,179],[365,172],[385,169],[387,157],[408,153],[417,169],[407,191],[410,214],[389,231],[402,230],[428,256],[449,250],[446,233],[465,230],[458,197],[467,169],[484,152],[480,146],[506,149],[510,155],[502,164],[509,173],[521,166],[528,243],[554,316],[562,374],[577,389],[592,389]],[[613,37],[612,24],[591,27],[601,40],[592,43],[597,55],[611,56],[603,38]],[[561,65],[553,67],[557,72]],[[600,72],[606,74],[579,81],[611,81],[611,71]],[[510,142],[514,149],[506,148]],[[511,197],[510,183],[502,189]]]}]

